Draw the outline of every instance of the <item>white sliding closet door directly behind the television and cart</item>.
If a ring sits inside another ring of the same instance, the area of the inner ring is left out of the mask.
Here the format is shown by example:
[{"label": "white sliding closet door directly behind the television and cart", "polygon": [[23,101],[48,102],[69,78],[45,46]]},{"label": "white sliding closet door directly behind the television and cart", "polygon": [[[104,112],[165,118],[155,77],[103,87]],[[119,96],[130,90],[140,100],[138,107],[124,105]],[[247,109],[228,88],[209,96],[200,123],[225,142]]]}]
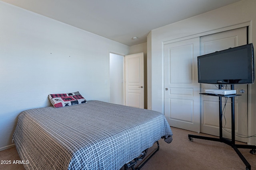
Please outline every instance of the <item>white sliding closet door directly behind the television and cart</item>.
[{"label": "white sliding closet door directly behind the television and cart", "polygon": [[[230,47],[245,45],[247,42],[246,27],[207,35],[200,38],[200,55],[221,51]],[[221,61],[220,61],[221,62]],[[216,66],[218,69],[218,66]],[[205,89],[218,89],[218,85],[201,84],[200,91]],[[228,86],[230,89],[230,86]],[[235,132],[240,134],[236,136],[237,141],[247,142],[247,85],[235,85],[237,94],[241,94],[240,90],[244,90],[242,96],[235,97]],[[219,111],[218,98],[214,96],[201,96],[201,129],[202,133],[219,136]],[[224,107],[224,98],[222,98],[222,107]],[[223,137],[231,138],[231,100],[227,101],[224,109],[224,117],[222,118]],[[241,137],[239,137],[241,136]]]}]

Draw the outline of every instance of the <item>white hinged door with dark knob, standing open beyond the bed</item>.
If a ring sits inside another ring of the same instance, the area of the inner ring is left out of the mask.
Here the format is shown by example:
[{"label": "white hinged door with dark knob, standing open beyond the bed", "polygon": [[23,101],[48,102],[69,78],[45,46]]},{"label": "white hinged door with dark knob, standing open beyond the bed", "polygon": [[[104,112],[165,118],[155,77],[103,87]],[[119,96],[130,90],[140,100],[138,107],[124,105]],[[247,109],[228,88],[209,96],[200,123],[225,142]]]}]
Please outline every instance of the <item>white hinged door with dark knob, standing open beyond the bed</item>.
[{"label": "white hinged door with dark knob, standing open beyond the bed", "polygon": [[125,105],[144,108],[144,54],[125,56]]}]

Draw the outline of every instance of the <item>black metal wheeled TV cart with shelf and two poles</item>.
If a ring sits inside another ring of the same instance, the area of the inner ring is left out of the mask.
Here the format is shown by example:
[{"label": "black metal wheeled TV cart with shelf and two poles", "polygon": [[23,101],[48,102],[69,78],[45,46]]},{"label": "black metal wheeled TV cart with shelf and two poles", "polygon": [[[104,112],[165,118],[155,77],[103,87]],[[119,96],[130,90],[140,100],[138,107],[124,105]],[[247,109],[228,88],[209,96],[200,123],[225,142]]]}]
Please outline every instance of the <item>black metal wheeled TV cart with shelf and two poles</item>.
[{"label": "black metal wheeled TV cart with shelf and two poles", "polygon": [[[221,85],[219,85],[219,89],[221,89]],[[231,90],[234,90],[234,84],[231,84]],[[188,139],[190,141],[193,141],[193,138],[197,139],[204,139],[204,140],[210,140],[210,141],[217,141],[217,142],[222,142],[227,145],[230,145],[238,154],[240,159],[244,162],[246,165],[246,170],[251,170],[251,165],[249,162],[244,158],[242,153],[238,150],[238,148],[243,148],[243,149],[251,149],[250,153],[251,154],[256,154],[256,146],[255,145],[237,145],[235,144],[235,106],[234,106],[234,99],[235,96],[241,96],[238,94],[232,94],[232,95],[216,95],[216,94],[208,94],[208,93],[200,93],[203,95],[210,95],[210,96],[218,96],[219,97],[219,126],[220,126],[220,137],[219,138],[214,138],[214,137],[204,137],[204,136],[198,136],[198,135],[188,135]],[[231,98],[231,140],[226,139],[222,137],[222,98]]]}]

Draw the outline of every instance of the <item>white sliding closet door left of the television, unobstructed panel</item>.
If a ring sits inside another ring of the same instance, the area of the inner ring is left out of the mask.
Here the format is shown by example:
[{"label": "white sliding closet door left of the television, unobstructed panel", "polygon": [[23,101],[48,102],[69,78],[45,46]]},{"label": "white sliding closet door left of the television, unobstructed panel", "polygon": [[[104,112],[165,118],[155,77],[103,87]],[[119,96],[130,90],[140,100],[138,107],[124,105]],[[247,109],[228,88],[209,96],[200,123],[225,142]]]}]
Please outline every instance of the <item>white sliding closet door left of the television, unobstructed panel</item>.
[{"label": "white sliding closet door left of the television, unobstructed panel", "polygon": [[200,38],[164,45],[164,115],[170,126],[200,132]]}]

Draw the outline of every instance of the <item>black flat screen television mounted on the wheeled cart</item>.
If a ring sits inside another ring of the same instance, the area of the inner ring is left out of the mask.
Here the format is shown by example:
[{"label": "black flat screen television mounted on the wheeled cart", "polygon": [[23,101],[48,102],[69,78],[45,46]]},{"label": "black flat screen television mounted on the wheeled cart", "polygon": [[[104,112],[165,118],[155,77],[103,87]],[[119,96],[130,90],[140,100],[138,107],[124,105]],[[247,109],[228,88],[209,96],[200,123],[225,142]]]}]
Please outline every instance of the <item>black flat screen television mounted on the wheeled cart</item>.
[{"label": "black flat screen television mounted on the wheeled cart", "polygon": [[198,82],[250,84],[254,82],[252,43],[197,57]]}]

